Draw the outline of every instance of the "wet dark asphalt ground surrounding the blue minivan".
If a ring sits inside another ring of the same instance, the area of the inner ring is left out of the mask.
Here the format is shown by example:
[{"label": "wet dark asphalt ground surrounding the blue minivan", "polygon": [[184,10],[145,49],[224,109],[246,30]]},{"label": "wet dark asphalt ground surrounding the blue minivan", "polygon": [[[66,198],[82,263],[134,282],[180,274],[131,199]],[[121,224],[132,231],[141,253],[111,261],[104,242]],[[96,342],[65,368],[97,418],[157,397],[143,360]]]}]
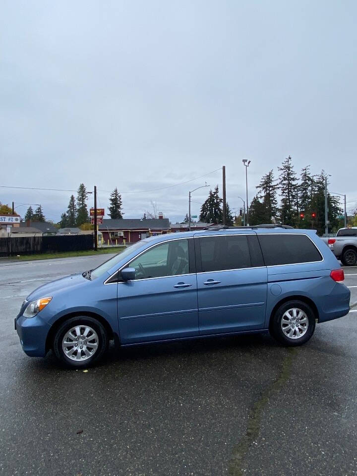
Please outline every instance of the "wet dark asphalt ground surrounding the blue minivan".
[{"label": "wet dark asphalt ground surrounding the blue minivan", "polygon": [[0,262],[0,475],[357,474],[357,312],[293,350],[268,335],[111,347],[88,372],[27,357],[24,297],[107,258]]}]

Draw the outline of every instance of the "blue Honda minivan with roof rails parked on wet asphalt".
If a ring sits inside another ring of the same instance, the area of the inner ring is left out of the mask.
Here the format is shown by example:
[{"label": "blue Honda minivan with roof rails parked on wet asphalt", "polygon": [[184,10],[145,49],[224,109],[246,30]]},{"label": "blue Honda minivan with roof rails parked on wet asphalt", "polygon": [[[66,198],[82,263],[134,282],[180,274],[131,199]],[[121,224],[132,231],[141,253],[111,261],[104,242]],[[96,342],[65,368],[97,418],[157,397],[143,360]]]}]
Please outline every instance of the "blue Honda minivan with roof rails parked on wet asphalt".
[{"label": "blue Honda minivan with roof rails parked on wet asphalt", "polygon": [[15,329],[28,356],[78,368],[121,346],[270,332],[304,344],[348,314],[343,270],[311,230],[211,227],[145,238],[104,264],[37,288]]}]

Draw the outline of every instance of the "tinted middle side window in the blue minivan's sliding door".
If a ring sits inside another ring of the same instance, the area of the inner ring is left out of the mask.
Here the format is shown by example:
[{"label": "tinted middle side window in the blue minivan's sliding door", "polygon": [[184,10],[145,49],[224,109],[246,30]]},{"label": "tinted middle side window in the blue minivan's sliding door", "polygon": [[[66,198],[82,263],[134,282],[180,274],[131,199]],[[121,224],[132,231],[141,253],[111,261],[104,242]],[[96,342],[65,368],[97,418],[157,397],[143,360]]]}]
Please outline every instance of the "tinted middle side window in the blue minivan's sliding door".
[{"label": "tinted middle side window in the blue minivan's sliding door", "polygon": [[202,272],[249,268],[250,254],[244,235],[199,238]]}]

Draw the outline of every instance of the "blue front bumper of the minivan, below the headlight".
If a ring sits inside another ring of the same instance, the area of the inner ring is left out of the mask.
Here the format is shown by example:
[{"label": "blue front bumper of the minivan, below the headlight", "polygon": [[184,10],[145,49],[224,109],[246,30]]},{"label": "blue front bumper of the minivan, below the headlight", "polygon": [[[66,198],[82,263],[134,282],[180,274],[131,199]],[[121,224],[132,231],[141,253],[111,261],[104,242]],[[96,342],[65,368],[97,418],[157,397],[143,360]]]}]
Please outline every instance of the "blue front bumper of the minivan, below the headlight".
[{"label": "blue front bumper of the minivan, below the headlight", "polygon": [[46,339],[51,326],[37,314],[35,317],[15,319],[15,329],[20,338],[23,351],[30,357],[45,357]]}]

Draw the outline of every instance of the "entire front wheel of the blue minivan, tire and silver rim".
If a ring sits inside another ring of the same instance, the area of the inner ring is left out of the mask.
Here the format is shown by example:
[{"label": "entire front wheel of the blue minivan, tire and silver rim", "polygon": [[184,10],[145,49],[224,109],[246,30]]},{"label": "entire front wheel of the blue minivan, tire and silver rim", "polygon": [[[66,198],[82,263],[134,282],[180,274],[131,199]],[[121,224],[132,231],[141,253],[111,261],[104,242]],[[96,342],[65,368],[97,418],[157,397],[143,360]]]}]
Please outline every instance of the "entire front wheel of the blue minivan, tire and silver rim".
[{"label": "entire front wheel of the blue minivan, tire and silver rim", "polygon": [[76,316],[57,330],[53,350],[66,366],[87,367],[100,360],[108,348],[104,326],[93,317]]}]

